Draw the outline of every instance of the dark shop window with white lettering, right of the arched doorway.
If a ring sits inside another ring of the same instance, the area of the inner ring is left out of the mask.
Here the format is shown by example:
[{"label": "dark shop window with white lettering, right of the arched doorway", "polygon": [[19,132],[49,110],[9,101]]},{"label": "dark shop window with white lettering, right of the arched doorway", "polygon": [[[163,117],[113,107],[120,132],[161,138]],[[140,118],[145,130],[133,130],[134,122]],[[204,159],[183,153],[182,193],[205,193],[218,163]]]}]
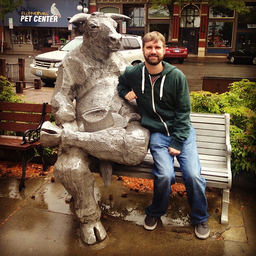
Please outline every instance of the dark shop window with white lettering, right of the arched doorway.
[{"label": "dark shop window with white lettering, right of the arched doorway", "polygon": [[209,22],[208,47],[232,47],[233,22]]}]

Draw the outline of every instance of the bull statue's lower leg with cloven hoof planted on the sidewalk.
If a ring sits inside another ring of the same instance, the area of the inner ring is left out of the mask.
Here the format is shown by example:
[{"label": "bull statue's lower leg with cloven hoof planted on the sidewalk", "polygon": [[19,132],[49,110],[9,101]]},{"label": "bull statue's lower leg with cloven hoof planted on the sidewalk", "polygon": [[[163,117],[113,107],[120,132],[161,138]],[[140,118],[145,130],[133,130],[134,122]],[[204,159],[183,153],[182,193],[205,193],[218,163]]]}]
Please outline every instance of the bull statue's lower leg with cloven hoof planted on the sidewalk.
[{"label": "bull statue's lower leg with cloven hoof planted on the sidewalk", "polygon": [[95,178],[90,172],[89,163],[84,151],[69,148],[59,155],[54,174],[74,198],[82,240],[92,245],[103,241],[106,231],[100,222],[101,210],[94,198]]}]

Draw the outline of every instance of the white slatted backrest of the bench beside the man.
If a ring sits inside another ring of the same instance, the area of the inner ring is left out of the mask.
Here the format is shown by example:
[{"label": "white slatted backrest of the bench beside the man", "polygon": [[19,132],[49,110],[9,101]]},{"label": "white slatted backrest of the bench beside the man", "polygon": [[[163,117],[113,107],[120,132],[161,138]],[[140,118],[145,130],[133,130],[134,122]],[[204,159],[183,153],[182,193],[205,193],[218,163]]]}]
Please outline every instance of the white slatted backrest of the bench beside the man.
[{"label": "white slatted backrest of the bench beside the man", "polygon": [[229,139],[229,114],[191,113],[196,130],[197,151],[201,164],[227,166]]}]

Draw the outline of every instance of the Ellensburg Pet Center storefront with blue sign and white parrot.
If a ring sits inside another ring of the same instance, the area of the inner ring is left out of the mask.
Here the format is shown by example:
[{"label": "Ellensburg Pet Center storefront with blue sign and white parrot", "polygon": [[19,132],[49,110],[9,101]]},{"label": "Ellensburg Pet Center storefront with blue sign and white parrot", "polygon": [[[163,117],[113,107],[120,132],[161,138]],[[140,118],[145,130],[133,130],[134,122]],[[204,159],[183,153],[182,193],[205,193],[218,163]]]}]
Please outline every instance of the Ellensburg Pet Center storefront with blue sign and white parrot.
[{"label": "Ellensburg Pet Center storefront with blue sign and white parrot", "polygon": [[[88,1],[84,3],[88,5]],[[22,6],[6,16],[5,48],[14,51],[60,48],[80,34],[67,20],[67,17],[79,13],[77,5],[78,1],[70,0],[23,1]]]}]

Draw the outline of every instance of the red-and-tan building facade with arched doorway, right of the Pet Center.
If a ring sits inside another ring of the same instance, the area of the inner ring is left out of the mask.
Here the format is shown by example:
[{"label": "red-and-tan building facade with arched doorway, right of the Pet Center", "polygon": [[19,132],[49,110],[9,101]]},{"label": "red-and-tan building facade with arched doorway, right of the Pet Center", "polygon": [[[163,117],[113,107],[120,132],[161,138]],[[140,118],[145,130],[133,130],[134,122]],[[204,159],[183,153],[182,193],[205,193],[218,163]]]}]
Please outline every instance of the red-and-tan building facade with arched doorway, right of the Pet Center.
[{"label": "red-and-tan building facade with arched doorway, right of the Pet Center", "polygon": [[[174,4],[172,41],[200,57],[226,55],[242,44],[256,44],[256,0],[242,1],[250,10],[246,16],[220,6],[209,7],[206,0]],[[120,21],[120,33],[143,36],[159,31],[168,40],[169,11],[164,6],[152,9],[149,0],[90,0],[90,12],[94,11],[130,17]]]}]

